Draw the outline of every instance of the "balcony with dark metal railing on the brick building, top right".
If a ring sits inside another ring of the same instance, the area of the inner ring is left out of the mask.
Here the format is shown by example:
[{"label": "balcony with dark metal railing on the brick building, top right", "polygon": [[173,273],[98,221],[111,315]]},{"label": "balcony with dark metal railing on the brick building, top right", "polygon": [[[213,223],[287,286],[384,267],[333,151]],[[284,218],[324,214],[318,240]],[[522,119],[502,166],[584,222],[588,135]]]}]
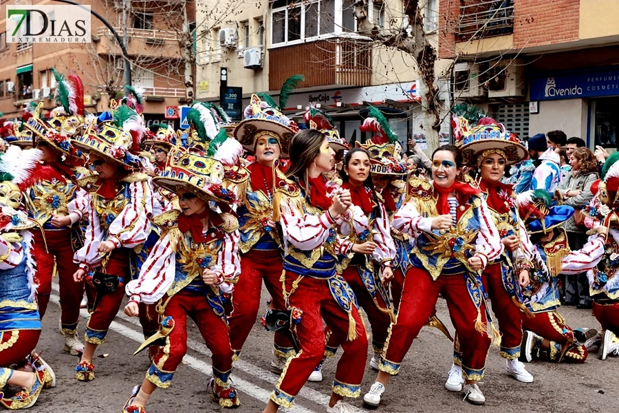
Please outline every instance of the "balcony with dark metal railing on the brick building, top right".
[{"label": "balcony with dark metal railing on the brick building, top right", "polygon": [[514,1],[464,0],[455,22],[456,41],[506,36],[514,32]]}]

